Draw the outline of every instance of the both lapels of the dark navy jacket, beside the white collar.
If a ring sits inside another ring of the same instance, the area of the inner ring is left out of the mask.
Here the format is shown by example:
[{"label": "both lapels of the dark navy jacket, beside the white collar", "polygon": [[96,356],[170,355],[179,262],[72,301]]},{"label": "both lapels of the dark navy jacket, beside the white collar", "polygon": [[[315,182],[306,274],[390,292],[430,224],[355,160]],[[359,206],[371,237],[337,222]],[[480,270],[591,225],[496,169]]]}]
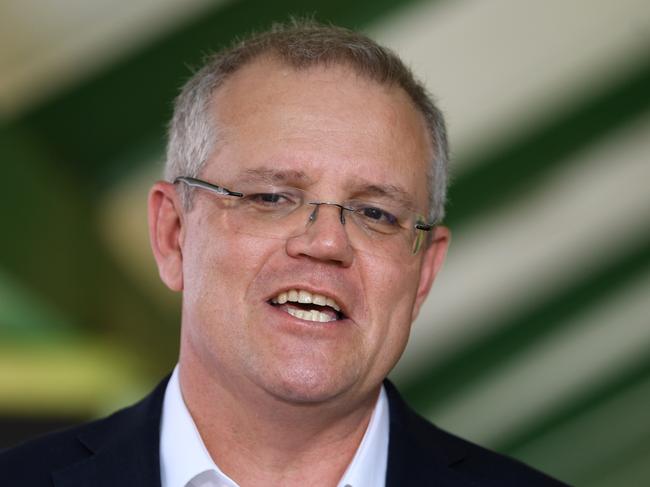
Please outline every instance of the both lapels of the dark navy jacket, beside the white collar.
[{"label": "both lapels of the dark navy jacket, beside the white collar", "polygon": [[[88,457],[52,473],[56,487],[160,487],[160,419],[165,378],[144,400],[85,428],[77,438]],[[462,443],[413,412],[395,387],[384,381],[390,432],[386,487],[469,486],[454,470],[465,458]]]}]

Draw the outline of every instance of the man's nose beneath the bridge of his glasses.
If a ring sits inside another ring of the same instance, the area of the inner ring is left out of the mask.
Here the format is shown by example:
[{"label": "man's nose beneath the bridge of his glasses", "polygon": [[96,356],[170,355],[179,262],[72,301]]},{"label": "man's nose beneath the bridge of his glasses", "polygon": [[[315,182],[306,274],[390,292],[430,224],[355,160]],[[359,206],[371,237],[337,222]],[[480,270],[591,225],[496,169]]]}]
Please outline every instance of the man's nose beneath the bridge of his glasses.
[{"label": "man's nose beneath the bridge of his glasses", "polygon": [[329,203],[314,206],[306,230],[287,239],[287,254],[349,267],[354,250],[346,231],[343,208]]}]

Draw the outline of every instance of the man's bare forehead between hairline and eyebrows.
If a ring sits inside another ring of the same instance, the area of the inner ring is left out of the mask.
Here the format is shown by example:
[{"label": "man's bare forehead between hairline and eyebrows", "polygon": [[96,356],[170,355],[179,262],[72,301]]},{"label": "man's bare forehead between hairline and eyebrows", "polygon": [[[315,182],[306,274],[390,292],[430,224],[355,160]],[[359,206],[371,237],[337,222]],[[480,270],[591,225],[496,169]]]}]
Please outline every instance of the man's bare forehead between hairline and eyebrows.
[{"label": "man's bare forehead between hairline and eyebrows", "polygon": [[280,169],[341,188],[393,185],[427,200],[430,140],[399,87],[345,66],[295,70],[262,59],[217,90],[211,113],[218,141],[206,174],[216,180]]}]

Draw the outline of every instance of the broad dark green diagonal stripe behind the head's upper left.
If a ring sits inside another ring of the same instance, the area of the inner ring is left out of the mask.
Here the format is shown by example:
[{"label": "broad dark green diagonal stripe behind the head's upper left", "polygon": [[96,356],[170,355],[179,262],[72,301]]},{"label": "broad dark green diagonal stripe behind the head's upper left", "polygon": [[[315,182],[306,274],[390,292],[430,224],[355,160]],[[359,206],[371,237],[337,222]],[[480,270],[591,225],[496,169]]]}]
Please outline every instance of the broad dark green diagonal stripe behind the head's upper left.
[{"label": "broad dark green diagonal stripe behind the head's upper left", "polygon": [[105,187],[112,174],[129,169],[115,166],[123,154],[143,142],[162,150],[171,100],[190,74],[187,66],[199,65],[207,52],[289,14],[360,28],[415,1],[228,2],[13,123],[88,182]]}]

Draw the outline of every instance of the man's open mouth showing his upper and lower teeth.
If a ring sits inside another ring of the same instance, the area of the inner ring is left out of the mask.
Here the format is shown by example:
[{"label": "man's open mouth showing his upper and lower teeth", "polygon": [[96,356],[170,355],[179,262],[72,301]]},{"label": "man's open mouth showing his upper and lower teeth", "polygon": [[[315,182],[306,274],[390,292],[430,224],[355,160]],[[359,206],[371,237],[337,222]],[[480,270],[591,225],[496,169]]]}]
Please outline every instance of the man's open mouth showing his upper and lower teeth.
[{"label": "man's open mouth showing his upper and lower teeth", "polygon": [[269,304],[304,321],[329,323],[346,318],[335,299],[304,289],[282,291]]}]

